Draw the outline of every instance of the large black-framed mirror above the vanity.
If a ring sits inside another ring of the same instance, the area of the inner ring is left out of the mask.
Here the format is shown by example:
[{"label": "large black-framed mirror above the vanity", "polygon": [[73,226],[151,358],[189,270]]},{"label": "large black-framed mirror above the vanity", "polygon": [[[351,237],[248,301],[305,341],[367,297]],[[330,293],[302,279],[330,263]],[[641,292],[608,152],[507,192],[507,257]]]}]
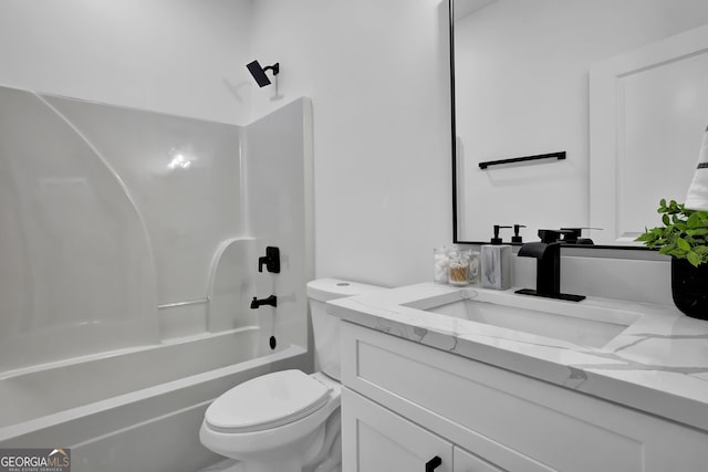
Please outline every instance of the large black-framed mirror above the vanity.
[{"label": "large black-framed mirror above the vanity", "polygon": [[450,11],[455,242],[523,224],[524,241],[602,228],[583,237],[637,247],[660,224],[658,200],[683,201],[693,178],[708,2],[450,0]]}]

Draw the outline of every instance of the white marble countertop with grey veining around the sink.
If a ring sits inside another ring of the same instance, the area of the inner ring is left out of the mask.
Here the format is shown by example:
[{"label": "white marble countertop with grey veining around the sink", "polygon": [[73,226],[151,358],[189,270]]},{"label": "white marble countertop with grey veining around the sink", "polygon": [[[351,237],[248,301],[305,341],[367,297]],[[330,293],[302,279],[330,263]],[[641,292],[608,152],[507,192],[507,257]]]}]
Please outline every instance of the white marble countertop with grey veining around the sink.
[{"label": "white marble countertop with grey veining around the sink", "polygon": [[[482,296],[483,295],[483,296]],[[530,334],[430,313],[428,305],[475,297],[544,310],[572,304],[631,319],[607,344]],[[434,302],[430,302],[434,301]],[[559,305],[561,304],[561,305]],[[673,306],[587,297],[549,301],[476,286],[421,283],[327,302],[327,312],[358,325],[455,353],[708,431],[708,322]]]}]

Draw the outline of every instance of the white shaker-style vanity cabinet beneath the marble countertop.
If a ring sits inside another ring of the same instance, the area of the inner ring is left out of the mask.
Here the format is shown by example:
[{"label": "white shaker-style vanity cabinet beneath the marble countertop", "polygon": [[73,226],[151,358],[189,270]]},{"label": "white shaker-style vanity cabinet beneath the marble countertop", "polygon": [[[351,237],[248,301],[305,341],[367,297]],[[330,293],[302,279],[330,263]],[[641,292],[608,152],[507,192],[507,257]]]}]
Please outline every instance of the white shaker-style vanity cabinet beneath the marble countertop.
[{"label": "white shaker-style vanity cabinet beneath the marble countertop", "polygon": [[[346,322],[342,349],[343,472],[698,472],[708,464],[706,431],[569,388]],[[426,469],[435,457],[440,465]]]}]

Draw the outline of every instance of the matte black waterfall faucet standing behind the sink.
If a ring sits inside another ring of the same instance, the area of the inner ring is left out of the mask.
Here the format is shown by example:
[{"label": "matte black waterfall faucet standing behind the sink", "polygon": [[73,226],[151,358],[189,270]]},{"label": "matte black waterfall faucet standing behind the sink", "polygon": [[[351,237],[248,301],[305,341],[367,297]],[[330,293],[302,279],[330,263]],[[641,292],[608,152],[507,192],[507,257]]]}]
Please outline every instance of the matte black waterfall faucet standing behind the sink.
[{"label": "matte black waterfall faucet standing behind the sink", "polygon": [[535,290],[521,289],[517,293],[522,295],[544,296],[546,298],[580,302],[584,295],[561,293],[561,234],[568,230],[539,230],[540,242],[527,242],[517,255],[535,258]]}]

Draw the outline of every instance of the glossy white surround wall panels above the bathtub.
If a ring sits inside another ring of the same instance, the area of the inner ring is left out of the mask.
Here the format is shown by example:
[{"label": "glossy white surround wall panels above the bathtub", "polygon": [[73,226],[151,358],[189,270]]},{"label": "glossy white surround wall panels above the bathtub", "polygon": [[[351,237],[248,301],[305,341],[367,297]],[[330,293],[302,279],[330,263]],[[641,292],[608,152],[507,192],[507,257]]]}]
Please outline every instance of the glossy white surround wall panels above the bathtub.
[{"label": "glossy white surround wall panels above the bathtub", "polygon": [[278,340],[306,343],[308,98],[248,126],[3,86],[0,105],[0,373],[252,325],[268,343],[249,304],[275,289]]}]

